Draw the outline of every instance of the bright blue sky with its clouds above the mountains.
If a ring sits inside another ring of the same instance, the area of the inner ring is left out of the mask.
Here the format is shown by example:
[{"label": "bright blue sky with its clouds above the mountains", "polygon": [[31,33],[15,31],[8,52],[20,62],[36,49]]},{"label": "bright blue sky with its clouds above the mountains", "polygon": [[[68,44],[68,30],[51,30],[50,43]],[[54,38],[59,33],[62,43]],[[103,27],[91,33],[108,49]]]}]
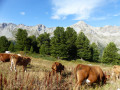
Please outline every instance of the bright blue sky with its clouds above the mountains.
[{"label": "bright blue sky with its clouds above the mountains", "polygon": [[81,20],[120,26],[120,0],[0,0],[0,23],[67,27]]}]

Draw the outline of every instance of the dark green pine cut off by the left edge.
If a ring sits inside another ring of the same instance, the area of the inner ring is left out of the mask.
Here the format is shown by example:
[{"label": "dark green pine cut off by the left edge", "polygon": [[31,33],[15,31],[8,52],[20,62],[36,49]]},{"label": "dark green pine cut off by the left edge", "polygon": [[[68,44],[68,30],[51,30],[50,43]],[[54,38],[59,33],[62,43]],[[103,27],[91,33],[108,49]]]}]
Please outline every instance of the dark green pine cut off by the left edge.
[{"label": "dark green pine cut off by the left edge", "polygon": [[0,52],[5,52],[8,50],[9,41],[5,36],[0,37]]}]

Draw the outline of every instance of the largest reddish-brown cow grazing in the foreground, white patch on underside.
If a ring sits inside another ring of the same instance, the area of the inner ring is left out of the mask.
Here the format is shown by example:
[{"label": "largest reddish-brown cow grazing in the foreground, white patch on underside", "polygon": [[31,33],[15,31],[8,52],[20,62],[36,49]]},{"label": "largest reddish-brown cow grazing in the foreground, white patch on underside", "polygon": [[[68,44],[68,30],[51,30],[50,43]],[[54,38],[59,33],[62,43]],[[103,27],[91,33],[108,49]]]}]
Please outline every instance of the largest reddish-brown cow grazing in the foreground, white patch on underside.
[{"label": "largest reddish-brown cow grazing in the foreground, white patch on underside", "polygon": [[107,77],[103,73],[102,69],[99,66],[89,66],[78,64],[75,68],[75,77],[76,77],[76,87],[87,83],[92,85],[93,83],[100,82],[102,84],[106,83]]}]

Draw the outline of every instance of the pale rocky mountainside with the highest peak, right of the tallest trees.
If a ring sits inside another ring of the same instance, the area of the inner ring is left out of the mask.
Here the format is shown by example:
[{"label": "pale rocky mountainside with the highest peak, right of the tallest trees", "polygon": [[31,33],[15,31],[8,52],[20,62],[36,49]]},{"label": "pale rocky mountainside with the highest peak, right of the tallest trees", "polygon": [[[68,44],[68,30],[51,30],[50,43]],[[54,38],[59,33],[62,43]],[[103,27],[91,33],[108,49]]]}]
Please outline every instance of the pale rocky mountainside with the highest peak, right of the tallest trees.
[{"label": "pale rocky mountainside with the highest peak, right of the tallest trees", "polygon": [[92,27],[83,21],[79,21],[70,27],[74,28],[77,33],[84,32],[91,43],[95,42],[105,47],[109,42],[114,42],[120,48],[120,26]]}]

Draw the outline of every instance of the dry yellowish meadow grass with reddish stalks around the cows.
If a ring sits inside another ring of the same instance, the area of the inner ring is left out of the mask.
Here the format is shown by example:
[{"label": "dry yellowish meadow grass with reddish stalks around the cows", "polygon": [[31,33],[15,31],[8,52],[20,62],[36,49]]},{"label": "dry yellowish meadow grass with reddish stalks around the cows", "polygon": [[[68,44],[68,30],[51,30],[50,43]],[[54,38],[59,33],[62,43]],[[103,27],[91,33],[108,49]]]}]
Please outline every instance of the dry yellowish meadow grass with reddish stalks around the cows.
[{"label": "dry yellowish meadow grass with reddish stalks around the cows", "polygon": [[[65,65],[65,71],[62,76],[56,74],[49,76],[51,66],[54,61],[48,61],[41,58],[32,58],[31,65],[28,66],[27,72],[22,71],[22,67],[17,67],[17,73],[10,71],[10,62],[0,62],[0,89],[2,90],[73,90],[75,86],[75,78],[73,69],[78,63],[91,64],[85,61],[64,61],[57,60]],[[99,65],[103,71],[110,73],[111,66],[92,63]],[[90,87],[83,85],[81,90],[117,90],[120,88],[120,81],[108,81],[102,87]]]}]

